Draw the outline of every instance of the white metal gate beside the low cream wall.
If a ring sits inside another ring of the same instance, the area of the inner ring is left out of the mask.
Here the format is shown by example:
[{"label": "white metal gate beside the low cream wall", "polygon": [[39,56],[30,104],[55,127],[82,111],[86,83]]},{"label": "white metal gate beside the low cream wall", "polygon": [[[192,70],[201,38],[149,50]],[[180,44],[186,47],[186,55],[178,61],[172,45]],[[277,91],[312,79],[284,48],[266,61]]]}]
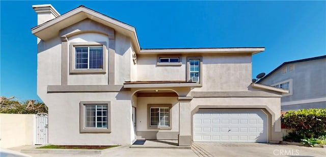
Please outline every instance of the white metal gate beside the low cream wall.
[{"label": "white metal gate beside the low cream wall", "polygon": [[35,115],[34,122],[34,144],[48,143],[48,115],[38,113]]}]

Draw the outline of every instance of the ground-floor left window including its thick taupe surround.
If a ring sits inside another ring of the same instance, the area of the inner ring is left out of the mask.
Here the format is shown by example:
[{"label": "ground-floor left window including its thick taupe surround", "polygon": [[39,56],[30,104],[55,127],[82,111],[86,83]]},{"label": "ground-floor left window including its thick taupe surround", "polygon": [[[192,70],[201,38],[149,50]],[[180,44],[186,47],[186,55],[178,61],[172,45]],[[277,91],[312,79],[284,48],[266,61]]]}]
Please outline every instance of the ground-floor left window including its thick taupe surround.
[{"label": "ground-floor left window including its thick taupe surround", "polygon": [[109,133],[110,101],[81,101],[80,102],[80,132]]}]

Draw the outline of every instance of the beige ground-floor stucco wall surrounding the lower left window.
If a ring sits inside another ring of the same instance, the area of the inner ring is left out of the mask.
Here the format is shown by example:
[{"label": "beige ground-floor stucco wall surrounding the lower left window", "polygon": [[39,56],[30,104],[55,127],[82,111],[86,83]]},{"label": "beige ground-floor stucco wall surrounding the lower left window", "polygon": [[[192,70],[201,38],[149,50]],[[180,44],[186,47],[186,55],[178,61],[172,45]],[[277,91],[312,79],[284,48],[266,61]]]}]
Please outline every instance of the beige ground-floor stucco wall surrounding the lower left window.
[{"label": "beige ground-floor stucco wall surrounding the lower left window", "polygon": [[[129,100],[128,100],[129,99]],[[42,100],[49,108],[49,143],[56,145],[126,145],[130,142],[129,92],[51,93]],[[79,102],[111,101],[111,133],[80,133]]]}]

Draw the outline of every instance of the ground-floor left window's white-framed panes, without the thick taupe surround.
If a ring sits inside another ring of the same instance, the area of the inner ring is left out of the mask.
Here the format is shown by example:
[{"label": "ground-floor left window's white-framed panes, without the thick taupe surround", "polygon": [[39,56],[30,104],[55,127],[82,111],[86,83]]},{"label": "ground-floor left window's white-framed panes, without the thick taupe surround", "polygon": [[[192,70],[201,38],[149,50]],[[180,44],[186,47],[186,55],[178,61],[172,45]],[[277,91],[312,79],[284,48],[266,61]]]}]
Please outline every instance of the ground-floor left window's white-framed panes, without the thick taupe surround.
[{"label": "ground-floor left window's white-framed panes, without the thick taupe surround", "polygon": [[107,127],[107,106],[100,104],[86,104],[85,128]]}]

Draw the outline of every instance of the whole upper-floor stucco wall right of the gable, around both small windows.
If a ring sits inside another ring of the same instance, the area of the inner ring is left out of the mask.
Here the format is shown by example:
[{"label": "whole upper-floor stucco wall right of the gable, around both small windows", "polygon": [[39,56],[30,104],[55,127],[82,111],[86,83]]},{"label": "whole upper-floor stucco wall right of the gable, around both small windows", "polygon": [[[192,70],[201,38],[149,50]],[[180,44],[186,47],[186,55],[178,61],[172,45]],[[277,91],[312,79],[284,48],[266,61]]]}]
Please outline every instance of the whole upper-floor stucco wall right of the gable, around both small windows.
[{"label": "whole upper-floor stucco wall right of the gable, around both small windows", "polygon": [[193,91],[248,91],[252,79],[251,55],[180,55],[181,66],[158,66],[160,56],[139,55],[138,81],[186,81],[186,57],[191,56],[203,58],[202,87]]}]

